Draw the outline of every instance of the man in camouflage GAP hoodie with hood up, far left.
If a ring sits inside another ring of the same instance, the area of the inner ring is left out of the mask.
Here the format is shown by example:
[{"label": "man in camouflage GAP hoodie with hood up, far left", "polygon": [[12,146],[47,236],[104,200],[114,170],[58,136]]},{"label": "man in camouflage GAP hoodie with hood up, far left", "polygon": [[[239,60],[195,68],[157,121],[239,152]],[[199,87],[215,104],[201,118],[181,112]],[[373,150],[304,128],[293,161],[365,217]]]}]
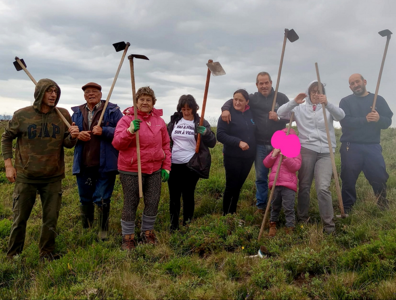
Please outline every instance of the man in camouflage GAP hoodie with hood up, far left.
[{"label": "man in camouflage GAP hoodie with hood up, far left", "polygon": [[[43,224],[39,241],[40,258],[58,258],[55,248],[56,224],[62,201],[62,184],[65,178],[63,147],[73,148],[77,142],[78,127],[68,129],[55,112],[60,98],[59,86],[50,79],[37,82],[33,106],[14,113],[1,137],[1,151],[5,174],[15,182],[13,194],[14,222],[8,241],[7,257],[20,254],[36,193],[39,191]],[[67,110],[58,108],[71,123]],[[15,168],[12,166],[12,140],[16,138]]]}]

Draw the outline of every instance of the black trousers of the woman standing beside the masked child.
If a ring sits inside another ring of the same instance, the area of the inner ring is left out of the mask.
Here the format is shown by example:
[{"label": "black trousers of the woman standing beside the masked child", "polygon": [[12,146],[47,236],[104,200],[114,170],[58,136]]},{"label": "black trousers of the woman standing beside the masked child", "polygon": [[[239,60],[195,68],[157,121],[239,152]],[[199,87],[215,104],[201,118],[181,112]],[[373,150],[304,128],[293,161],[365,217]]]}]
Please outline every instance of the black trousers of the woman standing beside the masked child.
[{"label": "black trousers of the woman standing beside the masked child", "polygon": [[239,194],[249,175],[254,158],[236,158],[224,155],[226,188],[223,195],[223,216],[237,212]]}]

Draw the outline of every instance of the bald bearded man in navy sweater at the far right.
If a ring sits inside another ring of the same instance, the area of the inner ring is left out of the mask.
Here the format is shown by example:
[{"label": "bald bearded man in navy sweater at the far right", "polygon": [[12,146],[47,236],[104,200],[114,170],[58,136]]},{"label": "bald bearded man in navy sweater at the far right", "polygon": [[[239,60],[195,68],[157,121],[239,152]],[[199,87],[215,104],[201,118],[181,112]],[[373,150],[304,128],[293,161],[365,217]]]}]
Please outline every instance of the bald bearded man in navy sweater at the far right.
[{"label": "bald bearded man in navy sweater at the far right", "polygon": [[373,187],[380,209],[387,209],[387,180],[382,147],[381,129],[392,123],[393,113],[381,96],[377,97],[376,107],[372,108],[374,94],[367,92],[367,81],[360,74],[349,77],[349,88],[353,92],[343,98],[340,108],[345,118],[340,121],[341,136],[341,180],[345,212],[349,212],[356,202],[356,180],[361,171]]}]

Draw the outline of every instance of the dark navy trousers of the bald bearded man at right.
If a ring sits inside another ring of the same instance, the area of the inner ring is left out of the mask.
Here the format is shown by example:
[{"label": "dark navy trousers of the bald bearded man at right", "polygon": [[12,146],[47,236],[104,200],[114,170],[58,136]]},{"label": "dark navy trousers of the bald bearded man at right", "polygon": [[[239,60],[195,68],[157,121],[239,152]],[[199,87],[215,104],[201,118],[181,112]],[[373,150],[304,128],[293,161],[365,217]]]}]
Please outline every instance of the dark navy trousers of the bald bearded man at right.
[{"label": "dark navy trousers of the bald bearded man at right", "polygon": [[388,206],[386,171],[382,147],[380,144],[342,143],[341,180],[343,180],[342,197],[344,209],[348,212],[356,202],[356,181],[361,171],[373,187],[379,206]]}]

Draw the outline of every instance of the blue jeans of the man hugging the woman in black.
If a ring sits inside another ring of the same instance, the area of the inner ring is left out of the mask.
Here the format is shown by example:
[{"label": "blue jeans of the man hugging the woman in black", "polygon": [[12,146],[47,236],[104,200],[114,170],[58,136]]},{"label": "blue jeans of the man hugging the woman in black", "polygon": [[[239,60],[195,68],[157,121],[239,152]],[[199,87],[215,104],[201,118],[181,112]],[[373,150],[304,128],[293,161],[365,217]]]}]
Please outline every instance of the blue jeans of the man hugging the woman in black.
[{"label": "blue jeans of the man hugging the woman in black", "polygon": [[264,158],[272,151],[271,145],[257,145],[254,169],[256,170],[256,206],[257,209],[265,210],[268,198],[268,171],[263,164]]}]

